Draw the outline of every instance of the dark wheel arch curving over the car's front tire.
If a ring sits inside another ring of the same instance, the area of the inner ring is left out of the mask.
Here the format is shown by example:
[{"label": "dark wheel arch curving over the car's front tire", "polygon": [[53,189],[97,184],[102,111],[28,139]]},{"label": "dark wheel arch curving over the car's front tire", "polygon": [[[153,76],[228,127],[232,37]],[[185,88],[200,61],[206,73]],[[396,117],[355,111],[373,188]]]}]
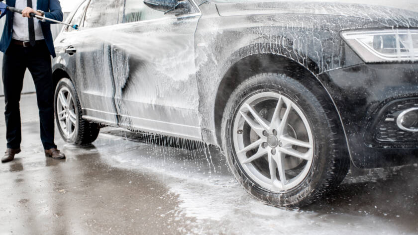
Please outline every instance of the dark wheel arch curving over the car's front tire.
[{"label": "dark wheel arch curving over the car's front tire", "polygon": [[[311,62],[311,68],[317,68]],[[317,72],[317,71],[315,71]],[[331,104],[330,111],[335,112],[337,115],[339,130],[344,136],[344,148],[347,154],[349,154],[347,137],[342,124],[341,116],[338,113],[338,109],[335,103],[328,93],[326,88],[322,85],[320,80],[315,76],[315,72],[311,71],[307,67],[301,65],[295,60],[288,57],[273,54],[273,53],[258,53],[248,55],[241,58],[235,64],[233,64],[222,77],[216,91],[216,98],[214,103],[214,125],[216,142],[222,148],[221,140],[221,126],[222,126],[222,115],[226,107],[226,103],[229,99],[229,95],[232,91],[245,79],[260,73],[282,73],[291,78],[297,79],[304,85],[314,85],[320,88],[323,92],[321,95],[325,97],[327,102]]]}]

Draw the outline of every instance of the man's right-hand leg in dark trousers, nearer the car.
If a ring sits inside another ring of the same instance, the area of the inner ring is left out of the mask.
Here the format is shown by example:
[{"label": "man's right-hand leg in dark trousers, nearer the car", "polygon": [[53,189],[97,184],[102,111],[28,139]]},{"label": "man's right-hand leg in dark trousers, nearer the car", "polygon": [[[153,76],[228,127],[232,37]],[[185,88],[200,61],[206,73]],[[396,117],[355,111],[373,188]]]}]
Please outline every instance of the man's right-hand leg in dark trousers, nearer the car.
[{"label": "man's right-hand leg in dark trousers, nearer the car", "polygon": [[51,56],[46,45],[37,44],[30,49],[27,66],[35,82],[43,147],[45,150],[57,148],[54,143],[54,94]]}]

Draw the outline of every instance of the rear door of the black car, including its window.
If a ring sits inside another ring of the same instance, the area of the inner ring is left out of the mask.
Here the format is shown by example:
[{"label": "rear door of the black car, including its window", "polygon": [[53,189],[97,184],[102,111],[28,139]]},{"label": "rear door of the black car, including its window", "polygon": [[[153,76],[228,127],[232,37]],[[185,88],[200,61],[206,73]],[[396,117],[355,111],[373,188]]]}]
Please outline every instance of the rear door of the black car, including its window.
[{"label": "rear door of the black car, including its window", "polygon": [[76,77],[83,118],[116,124],[113,102],[114,79],[111,66],[111,45],[102,35],[117,24],[122,0],[89,0],[80,30],[75,33],[71,48],[76,62]]}]

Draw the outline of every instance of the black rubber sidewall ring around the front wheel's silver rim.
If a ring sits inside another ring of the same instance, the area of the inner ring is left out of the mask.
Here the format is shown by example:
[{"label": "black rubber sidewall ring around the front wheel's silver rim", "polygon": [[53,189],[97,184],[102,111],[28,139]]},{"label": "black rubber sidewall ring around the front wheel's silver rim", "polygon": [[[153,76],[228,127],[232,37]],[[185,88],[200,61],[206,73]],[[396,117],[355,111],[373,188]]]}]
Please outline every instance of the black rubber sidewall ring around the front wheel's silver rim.
[{"label": "black rubber sidewall ring around the front wheel's silver rim", "polygon": [[[267,91],[284,95],[299,106],[308,119],[314,139],[314,157],[307,176],[296,187],[280,193],[266,190],[248,177],[237,160],[231,138],[233,120],[241,104],[250,96]],[[321,184],[326,184],[324,179],[327,178],[326,168],[329,161],[327,156],[329,150],[326,145],[328,124],[324,121],[323,113],[324,110],[316,97],[301,83],[287,76],[264,74],[250,78],[239,85],[227,102],[222,121],[222,146],[229,167],[239,183],[256,198],[276,206],[303,206],[316,200],[319,193],[315,193],[315,190],[318,190]]]}]

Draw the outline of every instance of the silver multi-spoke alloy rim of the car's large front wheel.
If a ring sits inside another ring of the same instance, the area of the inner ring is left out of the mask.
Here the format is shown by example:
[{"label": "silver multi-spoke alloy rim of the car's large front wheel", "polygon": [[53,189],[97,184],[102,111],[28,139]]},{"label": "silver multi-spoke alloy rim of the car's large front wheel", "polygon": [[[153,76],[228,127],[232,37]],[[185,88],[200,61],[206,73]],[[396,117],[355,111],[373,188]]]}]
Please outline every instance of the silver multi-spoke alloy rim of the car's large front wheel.
[{"label": "silver multi-spoke alloy rim of the car's large front wheel", "polygon": [[312,166],[314,140],[309,122],[295,102],[277,92],[247,98],[233,121],[232,137],[241,168],[269,191],[296,187]]}]

